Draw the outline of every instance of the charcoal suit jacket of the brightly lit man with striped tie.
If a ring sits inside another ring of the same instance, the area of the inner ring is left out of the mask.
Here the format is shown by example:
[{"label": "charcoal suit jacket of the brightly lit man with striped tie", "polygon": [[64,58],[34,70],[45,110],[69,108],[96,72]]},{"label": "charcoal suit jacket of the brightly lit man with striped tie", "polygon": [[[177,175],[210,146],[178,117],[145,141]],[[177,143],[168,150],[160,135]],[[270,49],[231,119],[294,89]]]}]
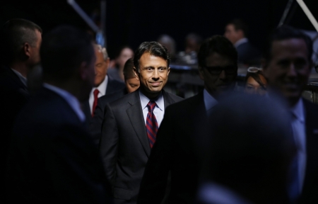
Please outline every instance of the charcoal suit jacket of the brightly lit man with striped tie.
[{"label": "charcoal suit jacket of the brightly lit man with striped tie", "polygon": [[[163,91],[165,108],[182,98]],[[139,89],[107,103],[100,138],[114,203],[136,203],[143,171],[151,153],[143,119]]]}]

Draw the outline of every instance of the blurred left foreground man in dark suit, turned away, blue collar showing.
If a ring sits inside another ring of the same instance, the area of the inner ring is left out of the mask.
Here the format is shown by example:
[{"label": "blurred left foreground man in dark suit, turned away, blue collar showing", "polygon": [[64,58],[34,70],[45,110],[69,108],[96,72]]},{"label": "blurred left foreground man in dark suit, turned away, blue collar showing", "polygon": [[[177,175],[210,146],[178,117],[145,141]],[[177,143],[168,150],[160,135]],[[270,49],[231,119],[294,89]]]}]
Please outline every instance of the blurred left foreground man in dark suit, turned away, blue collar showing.
[{"label": "blurred left foreground man in dark suit, turned away, blue collar showing", "polygon": [[10,151],[9,203],[106,203],[98,149],[81,111],[94,81],[90,35],[70,26],[47,33],[44,84],[21,111]]}]

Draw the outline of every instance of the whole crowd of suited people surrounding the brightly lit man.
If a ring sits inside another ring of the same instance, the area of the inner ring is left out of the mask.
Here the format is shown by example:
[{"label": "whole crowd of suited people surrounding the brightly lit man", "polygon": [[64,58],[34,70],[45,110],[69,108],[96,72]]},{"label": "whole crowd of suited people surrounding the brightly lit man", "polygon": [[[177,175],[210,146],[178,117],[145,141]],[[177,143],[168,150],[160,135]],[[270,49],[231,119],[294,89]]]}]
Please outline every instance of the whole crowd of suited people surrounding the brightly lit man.
[{"label": "whole crowd of suited people surrounding the brightly lit man", "polygon": [[[261,54],[238,20],[224,36],[188,35],[178,55],[163,35],[113,61],[73,26],[42,39],[15,18],[0,32],[4,203],[318,203],[318,106],[302,98],[312,40],[300,30],[273,31],[244,91],[238,64]],[[196,60],[204,91],[165,91],[172,59]]]}]

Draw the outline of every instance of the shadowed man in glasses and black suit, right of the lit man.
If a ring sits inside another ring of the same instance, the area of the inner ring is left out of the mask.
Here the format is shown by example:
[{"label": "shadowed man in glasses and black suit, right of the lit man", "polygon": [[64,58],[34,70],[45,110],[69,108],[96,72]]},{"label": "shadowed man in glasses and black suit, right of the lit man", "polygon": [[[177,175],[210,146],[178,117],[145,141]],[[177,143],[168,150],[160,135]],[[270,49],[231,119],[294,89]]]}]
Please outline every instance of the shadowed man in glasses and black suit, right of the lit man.
[{"label": "shadowed man in glasses and black suit, right of the lit man", "polygon": [[[165,110],[138,203],[161,203],[166,198],[168,203],[194,203],[203,159],[201,146],[196,144],[204,134],[209,112],[235,87],[237,51],[228,39],[214,35],[201,45],[198,60],[204,91]],[[171,183],[170,193],[167,183]]]}]

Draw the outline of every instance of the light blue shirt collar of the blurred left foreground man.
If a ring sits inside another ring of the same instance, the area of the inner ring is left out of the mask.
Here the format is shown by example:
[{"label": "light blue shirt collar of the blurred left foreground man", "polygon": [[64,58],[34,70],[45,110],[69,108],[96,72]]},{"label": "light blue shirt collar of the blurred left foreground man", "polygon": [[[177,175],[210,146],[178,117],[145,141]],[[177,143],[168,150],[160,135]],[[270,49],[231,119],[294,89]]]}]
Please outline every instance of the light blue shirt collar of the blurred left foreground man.
[{"label": "light blue shirt collar of the blurred left foreground man", "polygon": [[51,91],[54,91],[59,96],[64,98],[64,100],[67,103],[69,103],[69,106],[71,106],[71,108],[76,113],[76,115],[81,120],[81,122],[85,121],[85,115],[84,115],[83,111],[81,110],[81,105],[75,96],[73,96],[72,94],[69,94],[69,92],[65,91],[64,89],[60,89],[57,86],[52,86],[52,85],[46,84],[46,83],[44,83],[43,86]]}]

